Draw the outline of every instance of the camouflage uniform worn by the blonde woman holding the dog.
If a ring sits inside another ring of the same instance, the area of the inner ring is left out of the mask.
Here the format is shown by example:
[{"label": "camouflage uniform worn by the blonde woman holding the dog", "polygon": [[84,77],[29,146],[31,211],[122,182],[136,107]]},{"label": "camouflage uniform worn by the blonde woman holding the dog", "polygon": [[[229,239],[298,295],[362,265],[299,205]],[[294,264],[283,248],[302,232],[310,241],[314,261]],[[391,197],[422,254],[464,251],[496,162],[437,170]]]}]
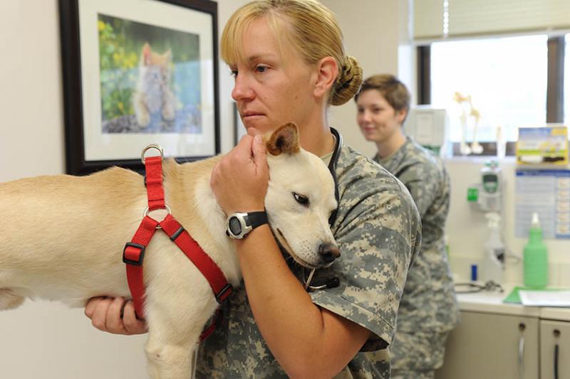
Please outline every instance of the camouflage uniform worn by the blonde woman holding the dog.
[{"label": "camouflage uniform worn by the blonde woman holding the dog", "polygon": [[[408,268],[420,250],[418,210],[400,181],[348,146],[341,149],[336,176],[341,200],[331,229],[341,257],[317,270],[311,285],[338,277],[340,286],[311,297],[372,332],[362,351],[383,349],[382,364],[358,353],[338,378],[389,378],[385,348]],[[301,277],[302,268],[291,268]],[[224,306],[222,325],[200,346],[197,377],[286,378],[261,337],[243,287]]]}]

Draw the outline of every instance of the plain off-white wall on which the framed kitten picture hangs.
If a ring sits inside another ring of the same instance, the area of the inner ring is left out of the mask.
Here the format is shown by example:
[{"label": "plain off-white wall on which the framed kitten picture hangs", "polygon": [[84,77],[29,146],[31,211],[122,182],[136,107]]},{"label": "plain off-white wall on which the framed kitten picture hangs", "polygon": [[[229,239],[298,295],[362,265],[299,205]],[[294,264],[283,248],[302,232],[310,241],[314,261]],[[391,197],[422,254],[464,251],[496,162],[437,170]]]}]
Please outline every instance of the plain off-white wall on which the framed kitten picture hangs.
[{"label": "plain off-white wall on which the framed kitten picture hangs", "polygon": [[[219,33],[243,3],[218,1]],[[58,1],[2,0],[0,14],[0,181],[62,174]],[[219,82],[222,150],[227,151],[234,140],[232,78],[222,64]],[[0,378],[147,378],[145,341],[146,336],[97,331],[83,309],[28,300],[19,309],[0,311]]]}]

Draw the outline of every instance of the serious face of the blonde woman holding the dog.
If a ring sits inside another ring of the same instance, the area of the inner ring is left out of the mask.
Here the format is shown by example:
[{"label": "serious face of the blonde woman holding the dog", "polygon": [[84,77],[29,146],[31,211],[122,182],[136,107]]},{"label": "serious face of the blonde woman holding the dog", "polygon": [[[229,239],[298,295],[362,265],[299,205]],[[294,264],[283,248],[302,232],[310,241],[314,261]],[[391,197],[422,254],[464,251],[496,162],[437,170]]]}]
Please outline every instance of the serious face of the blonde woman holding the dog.
[{"label": "serious face of the blonde woman holding the dog", "polygon": [[245,127],[268,132],[293,121],[302,127],[314,112],[309,65],[286,43],[279,43],[265,18],[244,31],[245,60],[232,65],[232,97]]}]

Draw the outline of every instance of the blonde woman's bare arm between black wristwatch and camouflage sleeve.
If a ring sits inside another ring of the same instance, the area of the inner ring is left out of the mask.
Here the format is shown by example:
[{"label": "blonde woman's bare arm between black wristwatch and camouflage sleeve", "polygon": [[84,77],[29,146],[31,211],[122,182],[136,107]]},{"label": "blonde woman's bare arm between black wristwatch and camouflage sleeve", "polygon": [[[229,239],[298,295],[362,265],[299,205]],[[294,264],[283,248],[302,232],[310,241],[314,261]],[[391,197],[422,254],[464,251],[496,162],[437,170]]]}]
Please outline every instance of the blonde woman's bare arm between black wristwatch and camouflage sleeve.
[{"label": "blonde woman's bare arm between black wristwatch and camouflage sleeve", "polygon": [[249,304],[271,353],[289,376],[336,375],[368,330],[323,311],[291,273],[269,226],[237,242]]}]

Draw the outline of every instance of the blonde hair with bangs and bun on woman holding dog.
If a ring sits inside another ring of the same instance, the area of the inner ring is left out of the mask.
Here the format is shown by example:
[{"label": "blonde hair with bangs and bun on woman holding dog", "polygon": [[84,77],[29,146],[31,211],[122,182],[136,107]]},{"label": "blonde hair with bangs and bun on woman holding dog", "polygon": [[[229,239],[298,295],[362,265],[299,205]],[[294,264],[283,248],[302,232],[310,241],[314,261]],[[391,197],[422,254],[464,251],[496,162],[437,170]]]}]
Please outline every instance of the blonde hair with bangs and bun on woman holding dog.
[{"label": "blonde hair with bangs and bun on woman holding dog", "polygon": [[280,46],[285,42],[291,44],[306,63],[312,65],[328,56],[336,60],[338,76],[331,88],[329,104],[344,104],[358,92],[362,68],[355,58],[346,55],[333,12],[316,0],[255,0],[239,8],[222,32],[220,50],[226,63],[233,65],[244,60],[244,31],[263,16]]}]

